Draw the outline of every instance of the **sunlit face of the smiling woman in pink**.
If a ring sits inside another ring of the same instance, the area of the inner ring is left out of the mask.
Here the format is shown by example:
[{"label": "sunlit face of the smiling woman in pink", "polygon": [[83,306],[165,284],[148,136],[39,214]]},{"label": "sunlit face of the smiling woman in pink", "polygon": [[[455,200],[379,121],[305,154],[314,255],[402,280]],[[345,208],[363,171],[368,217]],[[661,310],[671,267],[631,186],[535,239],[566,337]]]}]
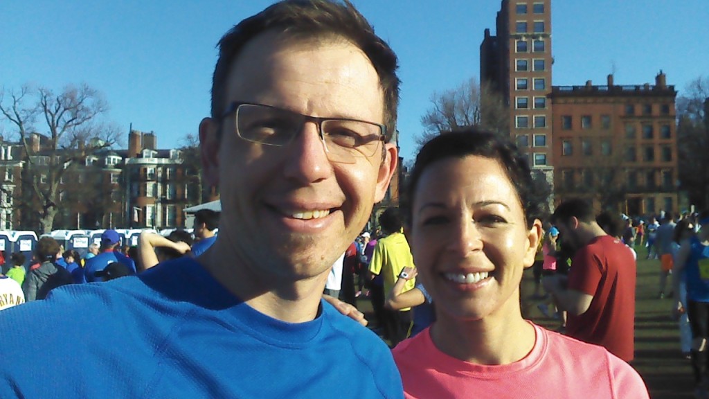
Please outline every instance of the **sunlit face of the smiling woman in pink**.
[{"label": "sunlit face of the smiling woman in pink", "polygon": [[517,192],[497,160],[469,155],[432,163],[413,199],[411,249],[443,317],[519,313],[519,285],[541,224],[527,229]]}]

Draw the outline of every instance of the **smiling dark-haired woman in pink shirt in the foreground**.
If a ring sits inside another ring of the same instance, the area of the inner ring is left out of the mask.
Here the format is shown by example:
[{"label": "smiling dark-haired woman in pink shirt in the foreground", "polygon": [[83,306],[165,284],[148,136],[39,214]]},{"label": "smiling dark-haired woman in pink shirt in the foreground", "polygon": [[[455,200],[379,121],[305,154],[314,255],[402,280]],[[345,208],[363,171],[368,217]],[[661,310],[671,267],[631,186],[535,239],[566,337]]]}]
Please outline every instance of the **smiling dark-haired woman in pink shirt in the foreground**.
[{"label": "smiling dark-haired woman in pink shirt in the foreground", "polygon": [[393,349],[406,398],[649,398],[603,347],[523,319],[542,236],[534,187],[527,158],[492,133],[448,132],[418,153],[406,234],[437,319]]}]

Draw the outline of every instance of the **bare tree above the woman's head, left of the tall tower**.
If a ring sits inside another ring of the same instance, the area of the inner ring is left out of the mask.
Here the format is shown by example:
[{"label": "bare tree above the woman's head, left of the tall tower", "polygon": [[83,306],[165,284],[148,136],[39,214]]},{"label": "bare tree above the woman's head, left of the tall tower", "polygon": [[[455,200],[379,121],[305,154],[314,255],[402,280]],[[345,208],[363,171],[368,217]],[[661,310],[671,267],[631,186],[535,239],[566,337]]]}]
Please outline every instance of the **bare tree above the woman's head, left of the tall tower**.
[{"label": "bare tree above the woman's head, left of the tall tower", "polygon": [[501,94],[485,82],[470,78],[454,89],[434,92],[431,108],[421,117],[424,132],[416,138],[423,143],[443,131],[475,127],[509,136],[509,113]]}]

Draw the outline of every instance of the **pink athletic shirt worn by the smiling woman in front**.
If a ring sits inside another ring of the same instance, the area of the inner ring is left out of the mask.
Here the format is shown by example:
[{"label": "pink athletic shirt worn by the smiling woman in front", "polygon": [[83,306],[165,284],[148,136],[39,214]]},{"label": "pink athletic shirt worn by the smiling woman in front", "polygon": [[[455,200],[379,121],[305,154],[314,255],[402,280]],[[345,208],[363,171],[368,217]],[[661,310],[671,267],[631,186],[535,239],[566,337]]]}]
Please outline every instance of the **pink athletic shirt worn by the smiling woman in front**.
[{"label": "pink athletic shirt worn by the smiling woman in front", "polygon": [[601,346],[535,327],[524,359],[481,366],[439,351],[425,329],[393,349],[406,398],[649,399],[640,375]]}]

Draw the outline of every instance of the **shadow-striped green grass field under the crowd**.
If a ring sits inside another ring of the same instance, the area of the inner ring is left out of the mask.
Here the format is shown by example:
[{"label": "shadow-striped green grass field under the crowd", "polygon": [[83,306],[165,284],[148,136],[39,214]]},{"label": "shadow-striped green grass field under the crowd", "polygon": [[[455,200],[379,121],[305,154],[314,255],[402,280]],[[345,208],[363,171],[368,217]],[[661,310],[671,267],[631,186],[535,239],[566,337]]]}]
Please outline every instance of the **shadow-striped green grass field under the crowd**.
[{"label": "shadow-striped green grass field under the crowd", "polygon": [[[635,302],[635,361],[637,369],[653,399],[693,398],[693,378],[690,363],[682,356],[679,347],[679,328],[671,319],[671,299],[661,300],[659,293],[659,261],[646,260],[647,252],[640,248],[637,263],[637,292]],[[668,290],[670,282],[668,281]],[[523,279],[522,296],[534,292],[532,271],[527,270]],[[523,300],[523,314],[549,329],[559,327],[559,322],[544,317],[537,310],[540,301]],[[360,310],[367,319],[374,320],[369,300],[360,297]],[[582,367],[582,365],[580,365]]]}]

